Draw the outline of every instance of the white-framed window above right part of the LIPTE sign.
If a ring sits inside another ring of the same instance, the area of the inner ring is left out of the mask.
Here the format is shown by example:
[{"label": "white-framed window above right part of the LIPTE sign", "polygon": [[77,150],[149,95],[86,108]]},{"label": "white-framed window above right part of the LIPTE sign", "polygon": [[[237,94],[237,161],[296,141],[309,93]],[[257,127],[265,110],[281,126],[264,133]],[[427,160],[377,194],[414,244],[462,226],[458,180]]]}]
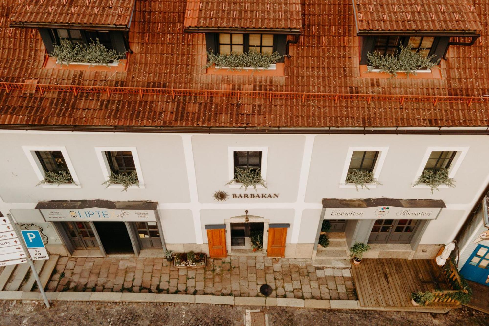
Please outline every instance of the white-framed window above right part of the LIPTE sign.
[{"label": "white-framed window above right part of the LIPTE sign", "polygon": [[108,187],[124,187],[118,182],[119,177],[129,176],[134,179],[129,188],[144,187],[143,174],[135,147],[96,147],[97,158],[105,180],[110,180]]}]

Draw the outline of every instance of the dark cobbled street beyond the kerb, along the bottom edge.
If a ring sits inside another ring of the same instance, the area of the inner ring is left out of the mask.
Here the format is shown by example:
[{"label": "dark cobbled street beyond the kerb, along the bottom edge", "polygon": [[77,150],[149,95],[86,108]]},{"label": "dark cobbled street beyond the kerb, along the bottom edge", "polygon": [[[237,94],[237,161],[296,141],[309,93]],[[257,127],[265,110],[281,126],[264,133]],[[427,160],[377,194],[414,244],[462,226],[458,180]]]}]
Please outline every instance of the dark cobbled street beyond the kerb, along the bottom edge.
[{"label": "dark cobbled street beyond the kerb, along the bottom edge", "polygon": [[[50,309],[42,303],[0,302],[1,326],[31,325],[244,325],[245,306],[169,303],[66,303]],[[253,307],[252,309],[256,309]],[[309,325],[487,325],[489,315],[470,308],[446,314],[370,310],[316,310],[271,307],[268,326]]]}]

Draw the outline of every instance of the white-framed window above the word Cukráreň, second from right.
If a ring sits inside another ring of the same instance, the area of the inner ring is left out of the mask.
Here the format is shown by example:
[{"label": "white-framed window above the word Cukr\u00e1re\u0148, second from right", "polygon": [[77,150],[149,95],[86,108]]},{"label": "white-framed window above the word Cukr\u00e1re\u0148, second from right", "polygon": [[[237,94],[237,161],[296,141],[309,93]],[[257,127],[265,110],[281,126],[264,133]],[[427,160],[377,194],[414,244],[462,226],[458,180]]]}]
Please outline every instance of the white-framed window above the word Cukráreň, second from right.
[{"label": "white-framed window above the word Cukr\u00e1re\u0148, second from right", "polygon": [[[343,172],[340,179],[340,187],[355,187],[347,183],[347,176],[352,173],[369,172],[371,178],[377,180],[384,164],[388,147],[350,147],[346,155]],[[375,183],[368,184],[376,187]]]}]

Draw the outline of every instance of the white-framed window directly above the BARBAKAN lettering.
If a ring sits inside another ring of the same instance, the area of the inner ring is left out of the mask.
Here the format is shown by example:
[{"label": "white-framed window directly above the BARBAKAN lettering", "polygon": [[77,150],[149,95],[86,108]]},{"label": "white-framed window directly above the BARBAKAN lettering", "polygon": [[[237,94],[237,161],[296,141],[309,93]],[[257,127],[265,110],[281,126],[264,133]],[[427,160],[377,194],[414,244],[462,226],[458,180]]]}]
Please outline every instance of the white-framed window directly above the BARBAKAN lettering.
[{"label": "white-framed window directly above the BARBAKAN lettering", "polygon": [[[254,171],[260,169],[262,179],[266,180],[267,153],[268,147],[228,147],[229,180],[236,177],[237,169]],[[229,185],[231,188],[240,186],[239,183]]]}]

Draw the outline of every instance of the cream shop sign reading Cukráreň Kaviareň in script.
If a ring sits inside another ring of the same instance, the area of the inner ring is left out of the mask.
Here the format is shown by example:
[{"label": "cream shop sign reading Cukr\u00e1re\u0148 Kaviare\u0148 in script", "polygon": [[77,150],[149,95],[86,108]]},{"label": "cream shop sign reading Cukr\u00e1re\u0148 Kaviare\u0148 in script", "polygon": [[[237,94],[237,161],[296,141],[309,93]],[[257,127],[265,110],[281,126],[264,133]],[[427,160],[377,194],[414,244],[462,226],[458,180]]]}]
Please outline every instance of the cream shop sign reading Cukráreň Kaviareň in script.
[{"label": "cream shop sign reading Cukr\u00e1re\u0148 Kaviare\u0148 in script", "polygon": [[358,207],[358,208],[326,208],[325,219],[436,219],[441,208],[439,207]]}]

